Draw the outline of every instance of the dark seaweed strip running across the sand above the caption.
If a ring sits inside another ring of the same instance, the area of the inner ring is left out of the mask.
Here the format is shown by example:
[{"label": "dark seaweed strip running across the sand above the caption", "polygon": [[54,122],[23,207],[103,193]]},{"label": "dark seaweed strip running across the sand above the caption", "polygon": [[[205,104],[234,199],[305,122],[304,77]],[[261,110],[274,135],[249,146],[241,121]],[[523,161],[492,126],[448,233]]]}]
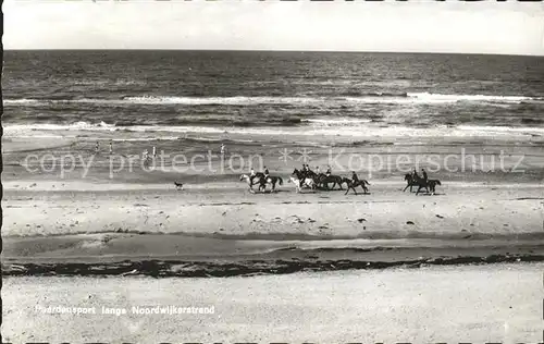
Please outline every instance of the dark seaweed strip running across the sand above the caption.
[{"label": "dark seaweed strip running across the sand above the caption", "polygon": [[227,278],[262,274],[287,274],[301,271],[339,271],[386,269],[394,267],[420,268],[424,266],[482,265],[499,262],[544,261],[542,255],[491,255],[486,257],[424,258],[399,261],[359,260],[248,260],[243,263],[208,261],[141,260],[116,263],[2,263],[4,275],[22,277],[124,277],[148,275],[153,278]]}]

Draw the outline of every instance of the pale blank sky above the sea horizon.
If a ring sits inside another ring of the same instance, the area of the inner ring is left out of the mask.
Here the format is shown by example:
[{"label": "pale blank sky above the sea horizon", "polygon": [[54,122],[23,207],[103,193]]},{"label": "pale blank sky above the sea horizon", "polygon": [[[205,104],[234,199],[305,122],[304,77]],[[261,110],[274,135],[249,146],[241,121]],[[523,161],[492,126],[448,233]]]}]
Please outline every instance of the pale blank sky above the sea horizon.
[{"label": "pale blank sky above the sea horizon", "polygon": [[4,49],[544,56],[544,2],[4,0]]}]

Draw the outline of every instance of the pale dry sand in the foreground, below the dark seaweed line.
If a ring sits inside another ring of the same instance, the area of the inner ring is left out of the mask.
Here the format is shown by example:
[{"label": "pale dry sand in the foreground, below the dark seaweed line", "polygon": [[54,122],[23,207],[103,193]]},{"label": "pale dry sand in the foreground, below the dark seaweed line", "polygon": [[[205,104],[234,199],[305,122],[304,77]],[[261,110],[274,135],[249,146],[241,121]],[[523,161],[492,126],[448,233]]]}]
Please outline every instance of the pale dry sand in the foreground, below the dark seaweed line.
[{"label": "pale dry sand in the foreground, below the dark seaweed line", "polygon": [[[539,343],[542,263],[230,279],[8,278],[3,341]],[[47,315],[36,306],[96,307]],[[101,307],[127,314],[102,315]],[[214,307],[134,315],[133,306]]]}]

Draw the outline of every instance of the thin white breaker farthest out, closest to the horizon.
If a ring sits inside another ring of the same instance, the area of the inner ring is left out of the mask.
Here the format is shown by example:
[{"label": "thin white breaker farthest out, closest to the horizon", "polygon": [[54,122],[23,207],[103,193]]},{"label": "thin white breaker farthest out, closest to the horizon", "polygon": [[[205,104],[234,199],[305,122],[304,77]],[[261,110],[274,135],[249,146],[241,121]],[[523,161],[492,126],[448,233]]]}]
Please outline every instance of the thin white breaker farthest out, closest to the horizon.
[{"label": "thin white breaker farthest out, closest to the horizon", "polygon": [[445,95],[432,93],[359,93],[357,90],[332,97],[175,97],[175,96],[137,96],[120,99],[81,98],[81,99],[4,99],[10,106],[42,106],[49,103],[92,103],[102,106],[255,106],[255,105],[313,105],[313,103],[452,103],[458,101],[481,103],[520,105],[543,102],[543,97],[503,96],[503,95]]}]

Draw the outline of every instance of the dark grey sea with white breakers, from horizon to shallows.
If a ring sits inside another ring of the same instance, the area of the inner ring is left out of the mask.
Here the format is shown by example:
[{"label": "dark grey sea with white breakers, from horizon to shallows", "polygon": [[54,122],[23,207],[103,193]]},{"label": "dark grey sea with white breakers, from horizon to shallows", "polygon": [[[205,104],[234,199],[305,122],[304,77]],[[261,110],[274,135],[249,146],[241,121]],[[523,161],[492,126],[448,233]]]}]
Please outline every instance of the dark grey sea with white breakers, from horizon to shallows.
[{"label": "dark grey sea with white breakers, from horizon to shallows", "polygon": [[5,51],[2,89],[8,136],[544,136],[544,57]]}]

